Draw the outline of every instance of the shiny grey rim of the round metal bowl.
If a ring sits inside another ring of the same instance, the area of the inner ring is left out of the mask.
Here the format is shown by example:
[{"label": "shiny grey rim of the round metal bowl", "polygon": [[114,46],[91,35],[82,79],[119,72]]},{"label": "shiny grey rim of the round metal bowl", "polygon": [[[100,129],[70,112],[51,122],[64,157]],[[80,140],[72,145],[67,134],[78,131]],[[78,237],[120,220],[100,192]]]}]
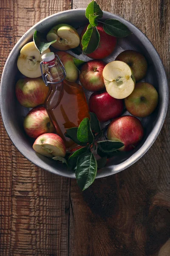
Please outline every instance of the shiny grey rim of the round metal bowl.
[{"label": "shiny grey rim of the round metal bowl", "polygon": [[[59,12],[56,13],[54,15],[50,15],[48,17],[46,17],[43,20],[40,20],[40,22],[36,23],[34,26],[32,26],[21,38],[20,40],[17,42],[17,44],[15,44],[14,48],[12,49],[11,53],[9,54],[6,64],[4,66],[4,70],[6,70],[6,68],[8,67],[8,64],[10,62],[10,57],[13,54],[13,52],[15,51],[15,49],[18,47],[18,45],[20,45],[20,43],[26,38],[27,35],[29,35],[29,33],[33,32],[35,30],[35,28],[42,22],[44,22],[45,20],[50,19],[51,17],[55,17],[58,15],[62,15],[63,13],[68,13],[68,12],[82,12],[82,15],[85,15],[85,9],[73,9],[73,10],[67,10],[67,11],[63,11],[63,12]],[[150,42],[150,40],[143,34],[142,31],[140,31],[140,29],[138,29],[136,26],[134,26],[132,23],[130,23],[129,21],[125,20],[124,18],[118,16],[118,15],[114,15],[110,12],[103,12],[104,15],[107,16],[114,16],[114,18],[117,18],[118,20],[120,20],[122,23],[124,23],[125,25],[127,25],[129,27],[129,29],[133,32],[133,34],[140,34],[140,41],[141,43],[146,46],[147,45],[147,51],[150,53],[150,55],[152,55],[153,61],[155,61],[156,64],[159,65],[160,67],[160,76],[162,77],[162,84],[164,85],[164,98],[163,98],[163,102],[161,104],[161,111],[159,114],[159,117],[156,121],[156,125],[154,126],[153,130],[150,132],[149,137],[147,137],[146,141],[144,142],[144,144],[142,145],[141,148],[139,148],[138,151],[136,151],[131,157],[129,157],[127,160],[125,160],[124,162],[116,165],[116,167],[114,168],[114,171],[112,170],[113,168],[108,167],[108,172],[100,172],[98,173],[98,175],[96,176],[96,178],[99,177],[106,177],[109,175],[113,175],[117,172],[120,172],[126,168],[128,168],[129,166],[131,166],[133,163],[136,163],[137,160],[139,160],[147,151],[148,149],[153,145],[153,143],[155,142],[156,138],[159,135],[159,132],[161,131],[162,125],[164,123],[164,119],[167,113],[167,106],[168,106],[168,81],[167,81],[167,76],[164,70],[164,66],[162,64],[161,58],[158,54],[158,52],[156,51],[155,47],[153,46],[153,44]],[[110,17],[113,18],[113,17]],[[3,119],[3,124],[6,128],[6,132],[9,135],[11,133],[10,128],[8,127],[8,125],[6,125],[8,122],[7,117],[4,114],[4,108],[3,108],[3,100],[2,100],[2,95],[3,95],[3,78],[5,76],[5,72],[3,70],[3,74],[2,74],[2,78],[1,78],[1,86],[0,86],[0,110],[1,110],[1,115],[2,115],[2,119]],[[20,143],[18,143],[13,135],[10,135],[10,139],[11,141],[14,143],[14,145],[16,146],[16,148],[20,151]],[[21,154],[23,154],[24,157],[26,157],[29,161],[31,161],[32,163],[34,163],[35,165],[37,165],[37,163],[34,162],[34,160],[31,160],[31,158],[29,158],[28,156],[26,156],[26,154],[24,154],[23,151],[20,151]],[[44,166],[42,166],[41,164],[38,164],[37,166],[39,166],[42,169],[45,169],[49,172],[52,172],[52,170],[50,168],[44,168]],[[56,172],[55,172],[56,173]],[[64,172],[63,174],[58,174],[61,175],[63,177],[74,177],[73,174],[70,175],[66,175]]]}]

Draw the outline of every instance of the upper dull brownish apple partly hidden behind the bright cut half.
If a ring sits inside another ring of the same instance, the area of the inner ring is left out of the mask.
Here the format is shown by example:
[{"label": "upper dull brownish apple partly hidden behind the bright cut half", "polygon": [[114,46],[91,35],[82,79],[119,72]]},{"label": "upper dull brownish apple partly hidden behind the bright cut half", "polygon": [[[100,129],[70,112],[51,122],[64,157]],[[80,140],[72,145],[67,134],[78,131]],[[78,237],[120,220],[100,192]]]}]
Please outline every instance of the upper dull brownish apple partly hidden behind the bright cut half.
[{"label": "upper dull brownish apple partly hidden behind the bright cut half", "polygon": [[133,50],[126,50],[121,52],[117,57],[116,61],[124,61],[128,64],[135,77],[136,81],[143,79],[147,73],[147,61],[140,52],[136,52]]}]

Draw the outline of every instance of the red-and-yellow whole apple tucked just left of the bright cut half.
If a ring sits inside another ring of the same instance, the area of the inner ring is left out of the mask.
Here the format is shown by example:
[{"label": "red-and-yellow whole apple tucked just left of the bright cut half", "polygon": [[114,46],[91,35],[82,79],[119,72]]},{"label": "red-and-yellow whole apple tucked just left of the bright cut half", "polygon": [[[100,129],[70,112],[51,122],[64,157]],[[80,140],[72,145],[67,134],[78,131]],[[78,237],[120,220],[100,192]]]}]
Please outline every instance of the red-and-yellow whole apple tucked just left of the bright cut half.
[{"label": "red-and-yellow whole apple tucked just left of the bright cut half", "polygon": [[79,81],[85,89],[90,91],[100,91],[105,89],[102,75],[105,65],[105,62],[100,60],[91,60],[83,64],[79,75]]}]

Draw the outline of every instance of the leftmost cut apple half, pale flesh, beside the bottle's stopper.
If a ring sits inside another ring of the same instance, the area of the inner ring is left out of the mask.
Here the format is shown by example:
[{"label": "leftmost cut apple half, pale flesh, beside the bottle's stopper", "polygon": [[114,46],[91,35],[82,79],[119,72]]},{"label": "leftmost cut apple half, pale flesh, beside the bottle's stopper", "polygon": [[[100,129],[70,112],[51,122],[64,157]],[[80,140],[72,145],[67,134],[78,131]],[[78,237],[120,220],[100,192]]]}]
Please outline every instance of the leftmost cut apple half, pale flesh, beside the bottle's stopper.
[{"label": "leftmost cut apple half, pale flesh, beside the bottle's stopper", "polygon": [[[39,50],[35,47],[34,42],[25,44],[20,50],[20,55],[17,60],[18,69],[24,76],[30,78],[36,78],[41,76],[41,56],[47,52],[50,52],[49,48],[42,52],[42,54],[40,54]],[[45,73],[44,68],[43,72]]]}]

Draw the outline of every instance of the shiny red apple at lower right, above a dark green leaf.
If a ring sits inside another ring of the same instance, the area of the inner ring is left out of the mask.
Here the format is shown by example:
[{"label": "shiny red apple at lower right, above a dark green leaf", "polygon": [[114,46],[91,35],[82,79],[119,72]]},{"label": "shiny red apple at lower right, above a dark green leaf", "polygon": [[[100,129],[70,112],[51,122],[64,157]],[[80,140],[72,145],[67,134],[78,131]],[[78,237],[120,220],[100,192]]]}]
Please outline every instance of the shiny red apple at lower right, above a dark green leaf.
[{"label": "shiny red apple at lower right, above a dark green leaf", "polygon": [[121,116],[108,126],[108,140],[120,141],[124,144],[120,151],[129,151],[136,147],[143,137],[143,127],[135,116]]}]

